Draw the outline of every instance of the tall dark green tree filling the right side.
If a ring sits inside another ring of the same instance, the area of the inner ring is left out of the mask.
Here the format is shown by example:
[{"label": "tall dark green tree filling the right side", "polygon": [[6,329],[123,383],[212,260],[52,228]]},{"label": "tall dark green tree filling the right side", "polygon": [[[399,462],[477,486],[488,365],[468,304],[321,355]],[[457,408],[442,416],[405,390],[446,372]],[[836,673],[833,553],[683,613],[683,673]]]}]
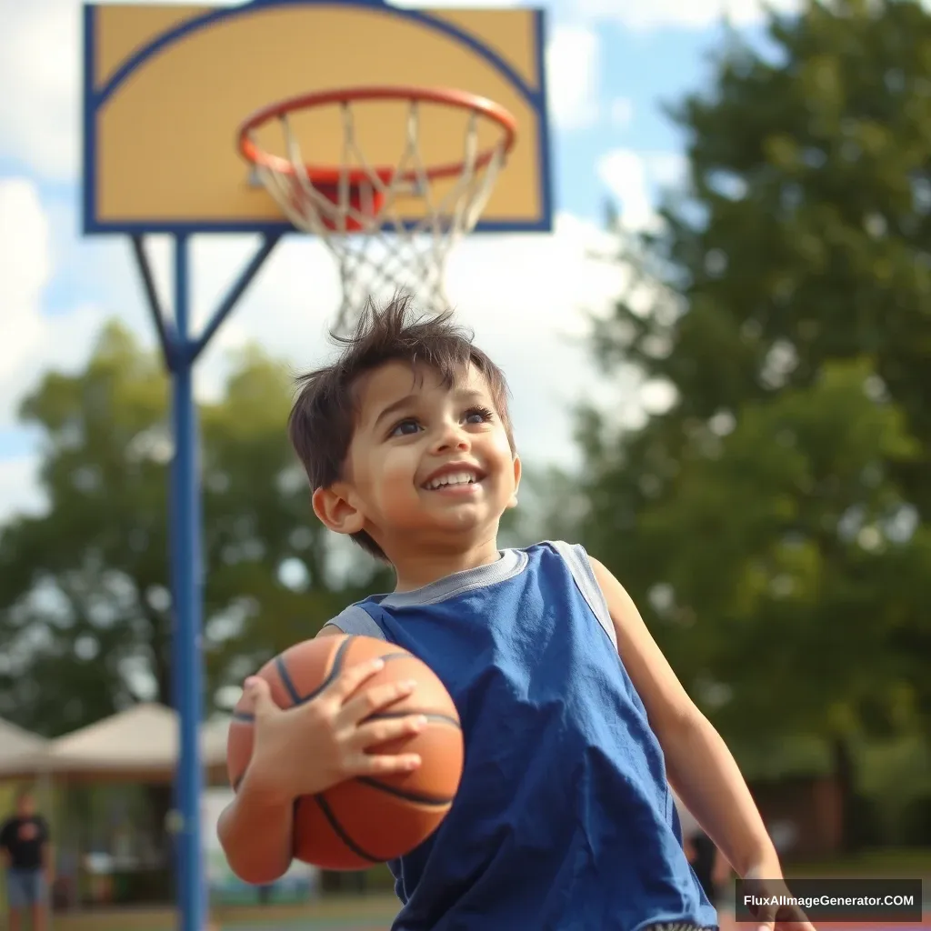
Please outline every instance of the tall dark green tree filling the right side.
[{"label": "tall dark green tree filling the right side", "polygon": [[585,535],[726,733],[843,769],[858,729],[931,734],[931,18],[838,0],[769,39],[672,111],[688,183],[595,349],[675,400],[619,439],[585,413]]}]

